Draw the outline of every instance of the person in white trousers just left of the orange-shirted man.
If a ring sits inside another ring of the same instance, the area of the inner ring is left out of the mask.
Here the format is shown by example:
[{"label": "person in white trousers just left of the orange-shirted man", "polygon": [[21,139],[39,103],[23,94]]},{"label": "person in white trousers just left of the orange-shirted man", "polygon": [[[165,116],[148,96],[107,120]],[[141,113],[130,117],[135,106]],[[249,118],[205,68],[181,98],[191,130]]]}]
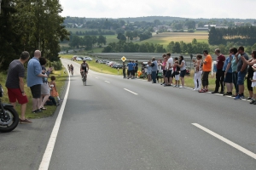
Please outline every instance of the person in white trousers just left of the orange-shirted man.
[{"label": "person in white trousers just left of the orange-shirted man", "polygon": [[202,65],[203,60],[201,54],[197,54],[196,60],[195,60],[195,76],[194,76],[194,83],[195,88],[194,90],[200,90],[201,87],[201,74],[202,74]]}]

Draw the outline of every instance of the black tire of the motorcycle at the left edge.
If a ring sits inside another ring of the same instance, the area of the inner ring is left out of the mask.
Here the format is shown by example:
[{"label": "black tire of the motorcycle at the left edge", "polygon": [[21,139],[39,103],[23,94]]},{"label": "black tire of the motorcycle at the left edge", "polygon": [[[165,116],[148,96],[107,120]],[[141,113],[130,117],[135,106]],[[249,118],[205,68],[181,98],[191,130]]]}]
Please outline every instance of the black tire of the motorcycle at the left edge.
[{"label": "black tire of the motorcycle at the left edge", "polygon": [[1,133],[9,133],[10,131],[14,130],[18,126],[19,115],[18,115],[17,111],[15,111],[15,109],[11,106],[4,106],[3,108],[10,116],[12,116],[12,123],[9,124],[8,127],[0,125],[0,132]]}]

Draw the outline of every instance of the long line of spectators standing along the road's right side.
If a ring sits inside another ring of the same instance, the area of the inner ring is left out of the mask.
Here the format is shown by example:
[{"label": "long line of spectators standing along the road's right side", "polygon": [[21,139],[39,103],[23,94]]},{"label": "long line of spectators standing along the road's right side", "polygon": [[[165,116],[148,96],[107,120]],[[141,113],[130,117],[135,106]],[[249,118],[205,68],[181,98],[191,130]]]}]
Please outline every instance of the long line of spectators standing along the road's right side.
[{"label": "long line of spectators standing along the road's right side", "polygon": [[[219,48],[214,50],[214,54],[217,55],[217,71],[215,89],[212,94],[223,94],[232,96],[234,99],[244,99],[244,82],[246,80],[249,92],[247,99],[251,100],[250,104],[256,105],[256,51],[252,52],[251,59],[242,46],[238,49],[230,48],[230,54],[226,57],[221,54]],[[207,93],[209,91],[209,74],[212,71],[212,56],[207,50],[204,50],[203,54],[196,55],[193,63],[195,67],[194,90],[199,93]],[[127,65],[123,63],[124,78],[126,78],[126,67],[127,78],[134,79],[137,76],[137,61],[130,60]],[[171,54],[167,53],[163,54],[162,59],[158,61],[153,58],[146,65],[142,63],[142,72],[147,68],[148,82],[156,83],[159,78],[160,67],[164,77],[164,82],[161,85],[184,88],[184,77],[187,69],[183,56],[172,59]],[[172,83],[173,80],[174,83]],[[224,87],[226,87],[226,93],[224,93]],[[232,94],[233,88],[236,89],[235,94]]]}]

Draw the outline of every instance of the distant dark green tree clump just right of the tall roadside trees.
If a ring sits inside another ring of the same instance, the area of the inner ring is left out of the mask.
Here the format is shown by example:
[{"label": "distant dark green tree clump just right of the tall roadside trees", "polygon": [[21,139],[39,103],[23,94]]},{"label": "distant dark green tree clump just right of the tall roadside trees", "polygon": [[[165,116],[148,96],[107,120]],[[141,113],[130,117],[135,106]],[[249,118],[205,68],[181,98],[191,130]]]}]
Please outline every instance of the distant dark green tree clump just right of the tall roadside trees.
[{"label": "distant dark green tree clump just right of the tall roadside trees", "polygon": [[106,44],[106,37],[103,37],[102,35],[99,37],[96,36],[84,36],[79,37],[77,35],[71,35],[69,46],[72,48],[84,48],[86,50],[90,50],[93,48],[96,44],[98,46],[101,46],[102,44]]}]

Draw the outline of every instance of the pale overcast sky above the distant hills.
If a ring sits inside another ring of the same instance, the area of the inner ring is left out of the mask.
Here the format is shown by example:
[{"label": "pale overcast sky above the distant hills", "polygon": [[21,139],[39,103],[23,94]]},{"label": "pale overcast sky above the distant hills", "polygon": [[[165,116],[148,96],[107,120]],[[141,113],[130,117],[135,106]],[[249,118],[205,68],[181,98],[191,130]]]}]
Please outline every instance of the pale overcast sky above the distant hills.
[{"label": "pale overcast sky above the distant hills", "polygon": [[256,0],[60,0],[61,16],[256,18]]}]

